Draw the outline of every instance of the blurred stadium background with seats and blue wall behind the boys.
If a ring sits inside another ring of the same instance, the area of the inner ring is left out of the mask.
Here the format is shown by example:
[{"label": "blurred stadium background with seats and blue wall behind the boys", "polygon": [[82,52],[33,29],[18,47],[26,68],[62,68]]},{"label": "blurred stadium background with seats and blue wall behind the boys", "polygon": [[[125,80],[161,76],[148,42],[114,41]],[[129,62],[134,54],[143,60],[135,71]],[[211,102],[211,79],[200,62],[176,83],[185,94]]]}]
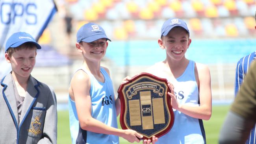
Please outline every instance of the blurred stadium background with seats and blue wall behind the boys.
[{"label": "blurred stadium background with seats and blue wall behind the boys", "polygon": [[87,22],[104,28],[109,42],[102,61],[115,91],[165,59],[158,46],[161,26],[171,17],[187,22],[192,39],[187,58],[209,66],[213,100],[233,100],[236,62],[256,50],[255,0],[55,0],[58,12],[39,39],[33,75],[52,85],[63,102],[70,78],[82,64],[76,31]]}]

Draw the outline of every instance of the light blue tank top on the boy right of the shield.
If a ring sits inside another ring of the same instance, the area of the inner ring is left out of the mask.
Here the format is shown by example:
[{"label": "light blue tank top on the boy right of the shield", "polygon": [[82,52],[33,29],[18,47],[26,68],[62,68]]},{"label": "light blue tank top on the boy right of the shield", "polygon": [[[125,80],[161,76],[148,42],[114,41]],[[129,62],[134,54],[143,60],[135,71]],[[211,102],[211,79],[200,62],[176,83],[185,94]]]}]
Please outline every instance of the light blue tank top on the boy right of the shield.
[{"label": "light blue tank top on the boy right of the shield", "polygon": [[[174,94],[180,104],[192,107],[199,106],[199,92],[195,79],[194,61],[189,61],[186,70],[180,77],[168,80],[173,83]],[[202,120],[192,118],[176,109],[173,109],[173,111],[173,127],[169,133],[158,138],[157,144],[205,144],[206,139]]]}]

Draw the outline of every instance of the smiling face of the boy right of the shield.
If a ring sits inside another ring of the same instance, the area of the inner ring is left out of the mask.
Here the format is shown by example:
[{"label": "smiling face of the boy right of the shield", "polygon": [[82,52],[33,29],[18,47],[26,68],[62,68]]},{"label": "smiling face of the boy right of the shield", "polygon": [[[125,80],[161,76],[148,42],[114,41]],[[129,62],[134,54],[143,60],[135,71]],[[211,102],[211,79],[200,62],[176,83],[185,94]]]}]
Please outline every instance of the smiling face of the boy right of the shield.
[{"label": "smiling face of the boy right of the shield", "polygon": [[158,40],[160,47],[166,50],[167,58],[176,61],[185,59],[190,43],[189,34],[181,27],[174,27],[166,36]]}]

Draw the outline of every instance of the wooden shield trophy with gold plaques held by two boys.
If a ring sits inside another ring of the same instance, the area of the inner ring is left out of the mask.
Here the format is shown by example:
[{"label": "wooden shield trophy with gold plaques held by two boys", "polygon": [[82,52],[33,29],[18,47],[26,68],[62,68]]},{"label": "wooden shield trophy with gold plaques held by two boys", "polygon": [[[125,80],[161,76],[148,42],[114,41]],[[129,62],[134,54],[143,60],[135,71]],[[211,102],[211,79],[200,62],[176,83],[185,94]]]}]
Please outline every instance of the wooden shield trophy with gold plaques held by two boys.
[{"label": "wooden shield trophy with gold plaques held by two boys", "polygon": [[118,89],[121,102],[120,125],[143,135],[142,139],[161,137],[173,126],[174,113],[167,79],[141,73]]}]

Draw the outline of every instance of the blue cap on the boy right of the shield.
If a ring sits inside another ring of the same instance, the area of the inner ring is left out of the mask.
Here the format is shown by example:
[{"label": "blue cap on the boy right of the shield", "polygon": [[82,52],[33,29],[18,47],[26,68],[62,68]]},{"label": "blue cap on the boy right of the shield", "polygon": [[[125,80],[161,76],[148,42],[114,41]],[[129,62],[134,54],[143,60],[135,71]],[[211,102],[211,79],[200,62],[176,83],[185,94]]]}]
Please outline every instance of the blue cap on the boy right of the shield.
[{"label": "blue cap on the boy right of the shield", "polygon": [[169,31],[176,26],[180,26],[180,27],[184,28],[189,34],[189,30],[187,28],[186,22],[184,22],[183,20],[181,20],[179,18],[169,18],[168,20],[166,20],[163,23],[163,26],[161,28],[161,37],[166,36],[169,33]]}]

